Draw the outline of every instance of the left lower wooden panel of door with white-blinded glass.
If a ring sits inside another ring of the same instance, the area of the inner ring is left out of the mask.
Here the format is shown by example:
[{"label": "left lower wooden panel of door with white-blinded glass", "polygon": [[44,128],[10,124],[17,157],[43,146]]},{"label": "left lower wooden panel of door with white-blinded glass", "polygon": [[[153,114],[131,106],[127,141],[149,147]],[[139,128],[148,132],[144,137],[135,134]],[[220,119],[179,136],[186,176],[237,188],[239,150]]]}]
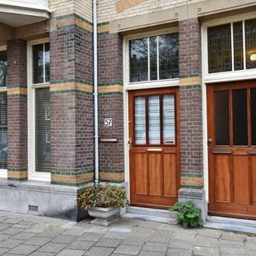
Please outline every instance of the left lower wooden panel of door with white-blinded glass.
[{"label": "left lower wooden panel of door with white-blinded glass", "polygon": [[148,160],[146,153],[135,154],[136,194],[148,194]]}]

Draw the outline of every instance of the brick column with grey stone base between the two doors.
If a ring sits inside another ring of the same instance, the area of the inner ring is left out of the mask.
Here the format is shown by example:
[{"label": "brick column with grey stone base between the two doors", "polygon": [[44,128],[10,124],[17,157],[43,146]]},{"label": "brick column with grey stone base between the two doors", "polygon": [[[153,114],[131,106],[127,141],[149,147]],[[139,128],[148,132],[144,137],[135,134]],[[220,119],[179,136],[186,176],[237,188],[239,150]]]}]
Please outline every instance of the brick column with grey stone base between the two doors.
[{"label": "brick column with grey stone base between the two doors", "polygon": [[179,200],[194,200],[206,215],[203,190],[203,105],[201,32],[197,19],[182,20],[179,29],[181,189]]}]

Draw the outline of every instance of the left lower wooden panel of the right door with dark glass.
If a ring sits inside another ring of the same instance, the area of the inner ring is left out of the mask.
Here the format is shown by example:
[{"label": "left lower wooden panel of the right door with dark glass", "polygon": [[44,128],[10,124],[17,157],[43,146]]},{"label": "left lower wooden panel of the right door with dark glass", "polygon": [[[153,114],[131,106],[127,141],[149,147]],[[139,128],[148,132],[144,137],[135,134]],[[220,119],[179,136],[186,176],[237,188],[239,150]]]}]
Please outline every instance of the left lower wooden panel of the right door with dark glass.
[{"label": "left lower wooden panel of the right door with dark glass", "polygon": [[228,154],[215,155],[215,200],[231,202],[231,169]]}]

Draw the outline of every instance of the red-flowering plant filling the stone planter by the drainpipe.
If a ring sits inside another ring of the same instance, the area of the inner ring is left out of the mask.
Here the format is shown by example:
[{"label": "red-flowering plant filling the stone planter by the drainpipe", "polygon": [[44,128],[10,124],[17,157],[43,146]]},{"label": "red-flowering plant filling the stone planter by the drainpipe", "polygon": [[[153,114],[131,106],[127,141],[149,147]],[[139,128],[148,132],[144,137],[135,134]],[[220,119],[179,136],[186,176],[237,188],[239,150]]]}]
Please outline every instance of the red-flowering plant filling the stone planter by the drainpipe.
[{"label": "red-flowering plant filling the stone planter by the drainpipe", "polygon": [[89,207],[128,206],[124,187],[106,184],[87,187],[78,195],[78,208],[86,211]]}]

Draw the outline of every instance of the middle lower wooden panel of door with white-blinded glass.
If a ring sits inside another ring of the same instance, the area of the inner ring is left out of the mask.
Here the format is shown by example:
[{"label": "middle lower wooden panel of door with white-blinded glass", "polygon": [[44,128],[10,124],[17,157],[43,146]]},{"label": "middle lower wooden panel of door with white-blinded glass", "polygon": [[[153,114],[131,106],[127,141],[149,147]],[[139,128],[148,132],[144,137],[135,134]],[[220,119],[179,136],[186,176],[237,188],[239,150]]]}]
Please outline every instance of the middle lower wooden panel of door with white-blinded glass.
[{"label": "middle lower wooden panel of door with white-blinded glass", "polygon": [[149,169],[149,194],[151,196],[162,196],[162,153],[148,154]]}]

